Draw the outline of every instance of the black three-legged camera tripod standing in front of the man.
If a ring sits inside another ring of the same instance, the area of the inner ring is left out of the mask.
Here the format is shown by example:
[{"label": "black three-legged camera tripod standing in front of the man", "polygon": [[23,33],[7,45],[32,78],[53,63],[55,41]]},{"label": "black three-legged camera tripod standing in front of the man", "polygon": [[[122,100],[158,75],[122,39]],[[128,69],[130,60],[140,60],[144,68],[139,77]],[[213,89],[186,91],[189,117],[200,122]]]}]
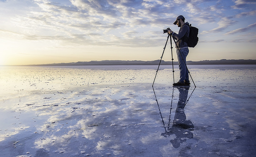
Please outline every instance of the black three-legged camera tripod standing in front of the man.
[{"label": "black three-legged camera tripod standing in front of the man", "polygon": [[[172,35],[171,35],[171,36],[172,36]],[[167,44],[167,42],[168,42],[169,37],[170,37],[170,34],[168,34],[168,37],[167,37],[165,46],[164,46],[164,48],[163,48],[163,53],[164,53],[164,50],[165,50],[165,47],[166,47],[166,44]],[[174,43],[175,43],[175,45],[176,45],[176,47],[177,47],[177,49],[178,49],[178,51],[179,51],[179,53],[180,53],[180,55],[181,55],[180,49],[179,49],[179,47],[178,47],[178,45],[177,45],[177,43],[176,43],[176,41],[175,41],[175,39],[174,39],[173,36],[172,36],[172,39],[173,39],[173,41],[174,41]],[[172,48],[173,48],[173,47],[172,47],[172,40],[171,40],[171,38],[170,38],[170,43],[171,43],[171,53],[172,53]],[[157,68],[157,72],[158,72],[158,70],[159,70],[159,66],[160,66],[160,63],[161,63],[162,58],[163,58],[163,53],[162,53],[162,56],[160,57],[161,59],[160,59],[160,62],[159,62],[158,68]],[[192,77],[191,77],[191,75],[190,75],[190,72],[189,72],[189,70],[188,70],[188,68],[187,68],[187,64],[186,64],[186,62],[184,61],[182,55],[181,55],[181,59],[182,59],[182,61],[184,62],[185,66],[186,66],[186,69],[187,69],[187,71],[188,71],[188,74],[189,74],[190,78],[192,79]],[[155,80],[156,80],[156,77],[157,77],[157,72],[156,72],[156,76],[155,76],[155,79],[154,79],[154,81],[153,81],[152,87],[154,86],[154,83],[155,83]],[[173,72],[173,83],[174,83],[173,55],[172,55],[172,72]],[[192,81],[193,81],[193,83],[194,83],[194,85],[195,85],[195,82],[194,82],[193,79],[192,79]],[[196,87],[196,85],[195,85],[195,87]]]}]

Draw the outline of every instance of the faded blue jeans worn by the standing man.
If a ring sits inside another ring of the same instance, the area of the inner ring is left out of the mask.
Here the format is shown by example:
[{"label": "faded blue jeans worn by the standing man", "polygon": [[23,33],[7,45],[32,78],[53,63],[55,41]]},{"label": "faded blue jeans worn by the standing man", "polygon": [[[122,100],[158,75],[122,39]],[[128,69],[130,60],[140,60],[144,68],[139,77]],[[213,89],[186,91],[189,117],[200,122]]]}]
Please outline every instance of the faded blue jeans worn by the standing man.
[{"label": "faded blue jeans worn by the standing man", "polygon": [[[180,50],[180,53],[179,53]],[[186,68],[186,57],[188,55],[188,48],[183,48],[183,49],[177,49],[176,53],[177,53],[177,57],[178,57],[178,61],[179,61],[179,69],[180,69],[180,80],[179,82],[184,83],[184,81],[189,82],[189,78],[188,78],[188,70]],[[182,55],[182,58],[181,58]]]}]

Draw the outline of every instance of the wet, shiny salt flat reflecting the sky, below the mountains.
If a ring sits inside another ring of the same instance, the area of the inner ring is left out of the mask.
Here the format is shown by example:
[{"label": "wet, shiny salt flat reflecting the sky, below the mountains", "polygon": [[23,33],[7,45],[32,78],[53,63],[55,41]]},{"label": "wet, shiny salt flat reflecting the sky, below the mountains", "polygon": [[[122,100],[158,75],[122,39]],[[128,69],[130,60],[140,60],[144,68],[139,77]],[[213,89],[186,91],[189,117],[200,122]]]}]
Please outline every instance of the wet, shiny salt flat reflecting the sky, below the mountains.
[{"label": "wet, shiny salt flat reflecting the sky, below the mountains", "polygon": [[255,65],[157,67],[0,67],[0,156],[254,156]]}]

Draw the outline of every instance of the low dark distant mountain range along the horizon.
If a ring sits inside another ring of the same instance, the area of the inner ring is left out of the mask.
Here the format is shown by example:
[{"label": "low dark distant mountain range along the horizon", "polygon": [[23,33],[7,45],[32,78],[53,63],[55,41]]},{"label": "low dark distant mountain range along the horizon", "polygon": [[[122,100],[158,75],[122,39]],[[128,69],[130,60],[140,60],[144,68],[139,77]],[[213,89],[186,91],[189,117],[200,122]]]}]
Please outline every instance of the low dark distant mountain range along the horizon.
[{"label": "low dark distant mountain range along the horizon", "polygon": [[[155,61],[78,61],[71,63],[33,64],[33,65],[159,65],[160,60]],[[178,61],[173,62],[178,65]],[[214,61],[187,61],[187,65],[215,65],[215,64],[256,64],[256,60],[214,60]],[[172,65],[172,61],[161,61],[161,65]]]}]

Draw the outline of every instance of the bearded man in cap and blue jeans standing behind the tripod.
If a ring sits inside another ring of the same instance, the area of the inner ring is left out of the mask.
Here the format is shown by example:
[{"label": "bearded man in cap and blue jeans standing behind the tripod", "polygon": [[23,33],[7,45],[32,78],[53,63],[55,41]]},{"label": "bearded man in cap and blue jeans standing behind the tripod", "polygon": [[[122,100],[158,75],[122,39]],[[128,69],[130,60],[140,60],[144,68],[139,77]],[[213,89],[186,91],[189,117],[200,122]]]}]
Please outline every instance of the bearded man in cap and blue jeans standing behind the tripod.
[{"label": "bearded man in cap and blue jeans standing behind the tripod", "polygon": [[[171,34],[177,41],[176,53],[179,61],[179,69],[180,69],[180,80],[177,83],[173,83],[174,86],[189,86],[189,78],[188,78],[188,70],[186,68],[186,57],[188,55],[188,46],[187,43],[184,42],[185,37],[189,36],[189,23],[185,23],[185,18],[180,15],[177,17],[176,21],[173,23],[174,25],[178,25],[180,27],[179,33],[175,33],[172,30],[168,30],[168,33]],[[182,61],[182,58],[184,61]]]}]

